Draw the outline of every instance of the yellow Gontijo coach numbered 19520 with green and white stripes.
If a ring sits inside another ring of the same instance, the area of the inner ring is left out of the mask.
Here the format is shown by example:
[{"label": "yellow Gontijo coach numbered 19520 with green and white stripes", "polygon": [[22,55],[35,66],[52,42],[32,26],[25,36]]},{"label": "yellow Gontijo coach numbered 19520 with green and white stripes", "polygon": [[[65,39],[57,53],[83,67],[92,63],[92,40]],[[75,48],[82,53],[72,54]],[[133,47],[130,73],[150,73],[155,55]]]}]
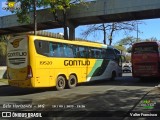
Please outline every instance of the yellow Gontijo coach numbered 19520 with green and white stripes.
[{"label": "yellow Gontijo coach numbered 19520 with green and white stripes", "polygon": [[111,47],[25,35],[7,45],[8,82],[17,87],[74,88],[77,83],[122,76],[121,55]]}]

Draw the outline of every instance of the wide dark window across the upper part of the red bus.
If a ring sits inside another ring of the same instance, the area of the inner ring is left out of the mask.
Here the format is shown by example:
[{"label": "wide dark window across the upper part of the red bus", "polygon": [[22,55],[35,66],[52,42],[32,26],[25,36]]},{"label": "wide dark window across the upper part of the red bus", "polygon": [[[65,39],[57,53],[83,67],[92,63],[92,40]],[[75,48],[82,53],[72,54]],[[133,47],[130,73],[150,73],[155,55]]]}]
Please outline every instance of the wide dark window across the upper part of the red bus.
[{"label": "wide dark window across the upper part of the red bus", "polygon": [[133,49],[133,53],[158,53],[157,46],[137,46]]}]

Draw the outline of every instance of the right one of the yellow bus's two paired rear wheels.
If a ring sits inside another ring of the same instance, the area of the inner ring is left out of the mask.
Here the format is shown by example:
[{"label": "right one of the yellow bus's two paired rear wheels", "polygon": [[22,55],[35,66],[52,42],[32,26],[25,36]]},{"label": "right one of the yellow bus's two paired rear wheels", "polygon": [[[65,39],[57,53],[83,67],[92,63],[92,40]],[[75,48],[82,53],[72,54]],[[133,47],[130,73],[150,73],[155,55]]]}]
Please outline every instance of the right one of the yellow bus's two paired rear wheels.
[{"label": "right one of the yellow bus's two paired rear wheels", "polygon": [[72,89],[77,85],[77,77],[75,75],[70,75],[68,79],[68,88]]}]

